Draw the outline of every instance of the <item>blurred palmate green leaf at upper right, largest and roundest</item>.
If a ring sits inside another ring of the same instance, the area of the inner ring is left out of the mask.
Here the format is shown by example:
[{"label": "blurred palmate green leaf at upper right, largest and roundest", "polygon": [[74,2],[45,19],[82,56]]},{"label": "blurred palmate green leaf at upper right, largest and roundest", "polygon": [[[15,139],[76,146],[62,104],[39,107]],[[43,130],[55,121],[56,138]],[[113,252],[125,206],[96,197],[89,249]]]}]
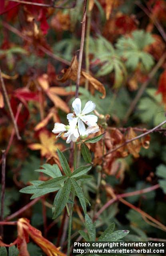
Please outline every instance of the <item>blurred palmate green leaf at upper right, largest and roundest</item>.
[{"label": "blurred palmate green leaf at upper right, largest and roundest", "polygon": [[118,54],[126,59],[126,66],[135,70],[141,62],[144,70],[150,70],[154,65],[152,55],[144,51],[144,48],[154,42],[151,34],[144,30],[134,30],[132,37],[122,36],[116,43]]}]

